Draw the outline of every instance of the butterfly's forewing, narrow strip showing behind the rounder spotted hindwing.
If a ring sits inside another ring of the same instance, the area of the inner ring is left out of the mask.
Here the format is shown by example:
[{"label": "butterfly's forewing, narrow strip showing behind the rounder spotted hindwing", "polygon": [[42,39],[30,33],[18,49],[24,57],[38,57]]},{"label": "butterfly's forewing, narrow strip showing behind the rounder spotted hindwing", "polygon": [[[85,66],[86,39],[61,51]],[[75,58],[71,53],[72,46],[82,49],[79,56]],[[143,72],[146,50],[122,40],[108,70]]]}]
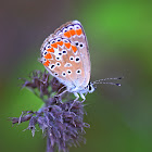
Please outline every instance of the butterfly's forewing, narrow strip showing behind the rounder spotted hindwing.
[{"label": "butterfly's forewing, narrow strip showing behind the rounder spotted hindwing", "polygon": [[58,28],[54,31],[54,34],[68,38],[77,47],[78,49],[77,52],[79,53],[80,59],[83,61],[81,68],[85,73],[85,77],[83,79],[81,86],[86,87],[90,80],[91,65],[90,65],[90,54],[89,54],[87,37],[83,28],[83,25],[78,21],[67,22],[64,25],[62,25],[60,28]]}]

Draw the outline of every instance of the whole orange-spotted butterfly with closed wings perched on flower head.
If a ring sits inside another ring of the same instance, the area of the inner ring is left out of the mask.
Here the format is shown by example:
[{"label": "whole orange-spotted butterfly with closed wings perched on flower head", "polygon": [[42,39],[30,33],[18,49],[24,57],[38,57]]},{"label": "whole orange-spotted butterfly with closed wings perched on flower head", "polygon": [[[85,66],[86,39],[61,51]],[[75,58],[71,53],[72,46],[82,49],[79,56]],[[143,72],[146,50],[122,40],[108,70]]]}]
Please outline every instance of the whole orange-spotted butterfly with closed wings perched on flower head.
[{"label": "whole orange-spotted butterfly with closed wings perched on flower head", "polygon": [[51,34],[43,41],[40,54],[40,61],[46,69],[66,86],[65,91],[74,93],[75,101],[79,99],[79,94],[85,101],[85,96],[94,91],[94,84],[107,84],[101,80],[109,78],[90,83],[88,42],[83,25],[78,21],[67,22]]}]

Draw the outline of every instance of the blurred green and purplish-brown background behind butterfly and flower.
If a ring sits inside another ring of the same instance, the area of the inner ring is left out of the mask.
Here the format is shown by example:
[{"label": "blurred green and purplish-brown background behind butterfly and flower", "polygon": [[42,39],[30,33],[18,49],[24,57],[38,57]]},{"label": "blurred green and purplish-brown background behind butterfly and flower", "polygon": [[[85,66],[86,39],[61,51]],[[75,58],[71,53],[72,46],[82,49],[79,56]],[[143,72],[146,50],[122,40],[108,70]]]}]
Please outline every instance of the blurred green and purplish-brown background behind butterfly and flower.
[{"label": "blurred green and purplish-brown background behind butterfly and flower", "polygon": [[21,89],[18,77],[43,69],[45,38],[67,21],[87,34],[91,80],[124,76],[122,87],[99,85],[87,96],[87,143],[73,152],[152,151],[152,2],[109,0],[0,1],[0,151],[45,152],[41,131],[12,127],[8,117],[38,110],[42,101]]}]

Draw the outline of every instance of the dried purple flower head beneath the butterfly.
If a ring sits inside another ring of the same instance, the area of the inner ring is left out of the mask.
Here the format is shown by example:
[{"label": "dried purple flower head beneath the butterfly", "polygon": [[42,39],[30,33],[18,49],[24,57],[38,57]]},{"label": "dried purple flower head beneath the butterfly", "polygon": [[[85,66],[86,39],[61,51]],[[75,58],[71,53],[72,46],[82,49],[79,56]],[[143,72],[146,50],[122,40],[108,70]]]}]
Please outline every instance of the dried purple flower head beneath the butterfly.
[{"label": "dried purple flower head beneath the butterfly", "polygon": [[12,124],[29,121],[27,129],[31,130],[33,136],[38,124],[47,137],[47,152],[54,152],[56,148],[66,152],[69,147],[86,142],[84,134],[89,124],[84,123],[83,103],[67,100],[66,96],[54,96],[65,87],[56,78],[51,79],[47,72],[35,71],[29,78],[24,79],[23,87],[33,90],[45,105],[37,112],[26,111],[20,117],[11,117]]}]

